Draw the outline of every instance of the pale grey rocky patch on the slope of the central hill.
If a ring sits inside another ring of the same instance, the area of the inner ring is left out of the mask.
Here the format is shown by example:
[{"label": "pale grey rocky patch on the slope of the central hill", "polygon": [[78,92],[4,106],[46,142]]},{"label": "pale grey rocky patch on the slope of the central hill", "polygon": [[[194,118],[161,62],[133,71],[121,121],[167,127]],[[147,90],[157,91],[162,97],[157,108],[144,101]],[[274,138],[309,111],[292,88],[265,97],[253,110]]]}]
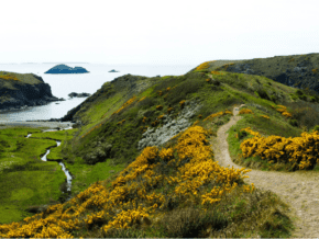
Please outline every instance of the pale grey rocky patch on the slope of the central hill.
[{"label": "pale grey rocky patch on the slope of the central hill", "polygon": [[[182,130],[188,128],[191,123],[188,122],[197,111],[201,109],[199,101],[185,102],[185,107],[179,113],[177,120],[173,120],[169,115],[164,115],[164,125],[156,130],[148,128],[139,141],[138,149],[142,150],[147,146],[161,146],[168,141],[172,137],[176,136]],[[172,114],[174,111],[172,111]]]}]

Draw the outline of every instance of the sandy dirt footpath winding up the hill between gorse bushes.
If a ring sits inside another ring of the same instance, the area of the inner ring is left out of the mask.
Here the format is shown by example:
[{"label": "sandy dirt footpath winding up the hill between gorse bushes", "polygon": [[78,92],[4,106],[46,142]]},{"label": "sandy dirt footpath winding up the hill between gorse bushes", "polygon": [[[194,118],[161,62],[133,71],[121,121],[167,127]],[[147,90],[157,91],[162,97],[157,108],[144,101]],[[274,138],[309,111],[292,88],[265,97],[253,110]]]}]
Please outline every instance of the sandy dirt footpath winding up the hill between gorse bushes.
[{"label": "sandy dirt footpath winding up the hill between gorse bushes", "polygon": [[[233,163],[230,158],[227,143],[228,134],[226,133],[241,120],[242,116],[238,114],[239,107],[234,107],[234,116],[218,129],[217,137],[211,140],[211,148],[220,166],[228,167],[229,164],[228,168],[241,169],[243,167]],[[293,231],[292,237],[319,237],[319,172],[266,172],[253,169],[245,175],[250,177],[244,179],[245,183],[254,183],[256,187],[270,190],[292,206],[292,212],[289,212],[288,216],[293,220],[297,218],[294,221],[296,230]]]}]

